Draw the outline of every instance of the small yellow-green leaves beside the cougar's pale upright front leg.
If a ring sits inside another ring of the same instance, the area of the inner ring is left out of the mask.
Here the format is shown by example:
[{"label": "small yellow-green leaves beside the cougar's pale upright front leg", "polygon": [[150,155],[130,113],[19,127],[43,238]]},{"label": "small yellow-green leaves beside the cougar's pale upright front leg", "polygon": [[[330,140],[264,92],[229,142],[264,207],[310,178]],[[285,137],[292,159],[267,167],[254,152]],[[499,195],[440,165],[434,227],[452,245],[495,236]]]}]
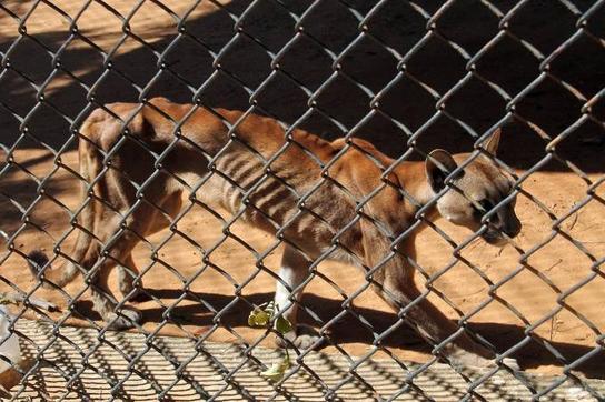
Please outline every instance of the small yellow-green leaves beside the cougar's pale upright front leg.
[{"label": "small yellow-green leaves beside the cougar's pale upright front leg", "polygon": [[[252,328],[268,328],[278,310],[279,305],[275,305],[272,301],[255,306],[255,309],[250,311],[250,315],[248,315],[248,325]],[[281,335],[285,335],[292,330],[292,324],[284,316],[279,315],[275,320],[275,329]],[[290,365],[290,354],[288,353],[288,349],[286,349],[284,359],[280,362],[271,364],[271,366],[262,371],[260,375],[269,381],[279,381],[284,378],[284,374]]]}]

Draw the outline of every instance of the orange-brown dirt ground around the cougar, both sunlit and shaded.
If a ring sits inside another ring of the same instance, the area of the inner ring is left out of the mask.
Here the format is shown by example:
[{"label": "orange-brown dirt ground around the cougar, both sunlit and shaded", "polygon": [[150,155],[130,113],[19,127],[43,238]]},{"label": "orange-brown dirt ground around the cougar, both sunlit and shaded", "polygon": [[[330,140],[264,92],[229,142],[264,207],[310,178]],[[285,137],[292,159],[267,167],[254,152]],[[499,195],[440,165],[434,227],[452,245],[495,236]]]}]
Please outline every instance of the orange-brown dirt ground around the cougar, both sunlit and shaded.
[{"label": "orange-brown dirt ground around the cougar, both sunlit and shaded", "polygon": [[[76,17],[83,3],[76,0],[53,2],[70,18]],[[115,7],[117,12],[127,14],[135,2],[107,3]],[[163,3],[180,17],[191,6],[176,0]],[[503,11],[512,7],[505,1],[494,3]],[[577,3],[585,10],[589,2]],[[16,16],[23,17],[31,4],[28,1],[7,1],[2,6]],[[248,2],[240,0],[225,2],[226,10],[235,16],[240,16],[247,6]],[[300,10],[308,4],[294,2],[289,6],[300,14]],[[355,4],[355,8],[365,14],[370,4]],[[434,12],[437,2],[428,2],[426,8]],[[175,20],[165,9],[146,2],[130,20],[131,36],[112,58],[112,68],[128,79],[116,72],[100,79],[102,58],[98,50],[107,52],[119,43],[122,21],[107,8],[93,2],[81,14],[78,28],[98,49],[78,37],[69,42],[60,53],[60,61],[61,68],[69,71],[70,77],[65,71],[53,70],[51,57],[42,48],[51,52],[59,51],[60,46],[70,38],[68,18],[40,3],[26,21],[27,32],[31,37],[23,37],[18,46],[11,48],[18,23],[6,12],[0,11],[0,51],[7,52],[10,49],[12,66],[0,76],[0,144],[3,148],[3,160],[9,148],[17,144],[11,153],[13,162],[4,163],[0,173],[0,230],[9,237],[14,235],[12,244],[16,249],[9,251],[4,238],[0,238],[0,279],[29,291],[36,283],[20,254],[39,247],[50,252],[54,242],[69,228],[67,211],[76,210],[79,204],[79,183],[67,169],[77,168],[73,143],[61,153],[60,160],[56,160],[49,150],[49,147],[58,150],[69,138],[69,125],[73,121],[77,124],[83,118],[81,111],[87,104],[88,89],[78,84],[76,78],[88,88],[96,86],[96,101],[101,103],[136,100],[136,86],[150,96],[162,94],[177,101],[187,101],[192,94],[180,79],[199,88],[212,72],[212,58],[191,39],[170,46],[178,33]],[[534,43],[544,54],[549,54],[575,32],[574,21],[573,14],[562,9],[561,4],[538,1],[518,12],[518,17],[512,21],[510,30]],[[593,34],[603,38],[602,29],[605,24],[594,21],[602,22],[603,16],[597,13],[587,26]],[[358,34],[355,18],[343,6],[321,3],[304,22],[309,36],[336,53],[343,52]],[[397,62],[383,44],[405,54],[426,33],[425,23],[411,8],[387,3],[369,21],[369,32],[375,39],[365,38],[344,54],[341,71],[376,93],[397,74]],[[475,28],[469,30],[469,26]],[[260,88],[271,72],[267,51],[276,53],[290,43],[280,63],[284,71],[298,81],[287,79],[285,73],[277,73],[255,98],[261,108],[259,111],[294,123],[307,110],[308,98],[299,86],[317,90],[334,73],[329,54],[305,36],[297,37],[291,44],[290,39],[296,37],[294,22],[284,9],[272,2],[261,2],[249,10],[242,27],[246,34],[235,40],[228,51],[218,56],[221,71],[228,73],[217,76],[202,92],[204,100],[217,107],[248,108],[250,93],[241,89],[241,83],[252,91]],[[444,36],[474,54],[496,34],[497,20],[478,2],[460,1],[445,12],[438,27]],[[201,39],[215,52],[234,36],[229,14],[208,2],[197,7],[187,17],[186,31]],[[135,36],[139,40],[135,40]],[[266,49],[254,42],[251,37],[262,42]],[[520,118],[534,121],[554,138],[581,118],[582,104],[595,96],[605,82],[605,52],[602,47],[596,47],[594,41],[583,37],[569,49],[553,62],[551,71],[576,89],[575,97],[555,80],[545,80],[518,103],[517,118],[509,119],[505,125],[500,157],[519,175],[544,158],[544,147],[549,142],[523,124]],[[175,74],[162,73],[155,78],[158,63],[155,54],[161,52]],[[464,59],[455,51],[443,41],[433,39],[424,51],[411,59],[409,73],[443,94],[466,74],[464,64]],[[447,70],[444,66],[448,67]],[[477,71],[482,77],[497,82],[508,93],[516,94],[538,76],[537,66],[538,61],[525,48],[513,39],[506,39],[478,62]],[[175,78],[176,73],[180,79]],[[33,84],[28,83],[28,80]],[[39,88],[34,86],[43,83],[44,102],[37,103],[36,92]],[[341,135],[339,128],[325,118],[328,114],[349,130],[356,127],[356,134],[371,140],[386,153],[400,155],[407,149],[406,137],[387,115],[415,131],[435,113],[434,99],[413,79],[404,79],[386,91],[380,99],[380,111],[384,113],[376,113],[367,123],[357,124],[369,112],[367,100],[359,86],[339,77],[320,91],[317,98],[317,110],[324,114],[313,113],[301,127],[326,138]],[[603,346],[605,277],[599,262],[605,254],[605,184],[589,190],[589,183],[602,180],[605,168],[603,131],[599,127],[604,120],[601,103],[595,101],[589,115],[593,119],[587,119],[556,148],[557,155],[582,170],[584,177],[581,178],[564,163],[554,161],[544,164],[523,182],[524,192],[530,195],[520,194],[517,201],[516,210],[524,224],[518,244],[526,252],[538,244],[542,247],[519,263],[519,252],[513,248],[498,249],[475,241],[462,252],[463,260],[468,263],[457,262],[435,283],[435,288],[463,312],[468,313],[486,304],[470,320],[472,328],[499,351],[530,336],[515,353],[520,364],[528,370],[561,373],[562,362],[546,345],[558,350],[567,362],[588,353],[597,343]],[[447,103],[446,111],[453,118],[442,114],[420,135],[418,147],[425,151],[437,147],[454,152],[468,150],[473,140],[454,119],[460,119],[483,133],[502,119],[504,108],[505,102],[499,96],[480,80],[472,79]],[[19,130],[20,118],[26,117],[23,127],[27,125],[28,131],[22,134],[23,130]],[[46,177],[49,178],[43,183],[46,194],[37,200],[36,180]],[[585,203],[588,193],[593,198]],[[574,210],[581,204],[582,208]],[[33,207],[29,209],[30,205]],[[575,212],[569,213],[572,210]],[[23,223],[21,215],[24,211],[29,220]],[[554,232],[553,223],[562,217],[566,218],[558,223],[558,232]],[[435,223],[457,242],[469,235],[444,220],[436,220]],[[211,263],[217,268],[201,270],[204,264],[200,250],[215,245],[222,237],[221,230],[219,221],[211,214],[201,208],[194,208],[178,222],[179,233],[158,233],[147,239],[148,244],[137,248],[135,259],[139,268],[146,270],[145,287],[156,298],[138,304],[143,311],[145,330],[188,336],[205,334],[216,323],[209,308],[211,305],[215,311],[220,311],[221,325],[209,340],[252,342],[264,335],[264,331],[247,326],[247,315],[250,303],[271,300],[275,280],[268,273],[257,270],[255,257],[236,240],[228,239],[210,254]],[[200,248],[192,247],[180,233],[192,239]],[[271,237],[239,224],[234,227],[234,233],[258,251],[267,250],[275,242]],[[67,237],[61,244],[62,251],[69,250],[72,239],[73,235]],[[425,231],[418,242],[421,244],[418,263],[426,272],[437,272],[453,261],[452,247],[435,231]],[[159,248],[155,263],[151,261],[153,248]],[[279,267],[278,251],[264,260],[274,272]],[[484,279],[470,265],[478,267]],[[513,279],[497,289],[497,297],[492,300],[485,279],[498,283],[517,271]],[[323,275],[315,278],[308,287],[304,303],[325,323],[341,311],[344,299],[338,288],[351,294],[364,284],[364,279],[354,268],[345,264],[323,263],[320,272]],[[190,291],[187,298],[182,298],[184,282],[189,279],[192,279]],[[418,281],[421,282],[423,278],[418,277]],[[235,291],[244,282],[248,283],[235,303]],[[584,284],[575,289],[579,283]],[[3,288],[8,289],[9,285],[4,284]],[[73,297],[81,289],[82,284],[75,281],[63,290]],[[561,298],[562,292],[567,292],[567,295]],[[34,294],[66,305],[66,297],[60,292],[39,289]],[[432,300],[452,318],[457,316],[439,298],[433,295]],[[170,305],[175,308],[166,322],[162,313]],[[544,319],[559,305],[563,306],[561,311]],[[378,333],[397,322],[397,316],[370,291],[355,298],[354,311]],[[58,319],[61,314],[51,316]],[[68,322],[90,325],[85,316],[98,319],[91,311],[88,293],[78,302]],[[304,319],[317,326],[308,314],[304,314]],[[535,328],[526,333],[529,325]],[[371,331],[353,313],[329,330],[331,342],[349,354],[359,355],[371,348]],[[265,340],[262,343],[270,344],[268,342]],[[408,343],[410,334],[403,329],[383,342],[395,355],[414,361],[426,359],[425,345],[414,340],[413,344]],[[326,350],[339,353],[334,345]],[[603,358],[601,352],[577,370],[591,376],[603,376]]]}]

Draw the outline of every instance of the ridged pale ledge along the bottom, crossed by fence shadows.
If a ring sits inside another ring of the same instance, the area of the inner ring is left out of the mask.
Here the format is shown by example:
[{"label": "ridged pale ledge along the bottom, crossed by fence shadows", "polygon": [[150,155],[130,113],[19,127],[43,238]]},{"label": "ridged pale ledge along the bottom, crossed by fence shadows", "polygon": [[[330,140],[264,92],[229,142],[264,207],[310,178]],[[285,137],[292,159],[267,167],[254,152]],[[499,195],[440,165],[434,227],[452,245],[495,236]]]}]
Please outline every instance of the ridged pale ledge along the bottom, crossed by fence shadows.
[{"label": "ridged pale ledge along the bottom, crossed by fence shadows", "polygon": [[[469,381],[485,374],[465,372],[470,379],[466,382],[448,365],[433,364],[414,379],[413,388],[406,389],[408,370],[418,370],[418,364],[368,359],[355,366],[359,358],[311,352],[304,356],[304,364],[292,366],[296,373],[276,389],[260,376],[264,364],[270,365],[280,359],[279,351],[268,348],[254,348],[247,359],[244,345],[204,342],[196,353],[195,341],[182,338],[155,336],[146,342],[142,334],[107,332],[100,341],[96,330],[65,326],[53,341],[51,324],[29,320],[19,320],[17,330],[21,332],[24,356],[33,358],[37,349],[44,350],[43,356],[49,362],[29,375],[24,386],[12,390],[18,400],[100,401],[111,399],[113,389],[118,401],[159,398],[173,401],[209,398],[221,401],[323,401],[329,396],[337,401],[457,401],[467,395]],[[225,380],[225,370],[234,373],[229,375],[229,382]],[[70,381],[72,378],[77,379]],[[558,380],[526,374],[523,381],[539,392]],[[582,381],[602,395],[605,392],[605,381]],[[328,388],[335,390],[333,395],[327,394]],[[505,371],[489,378],[475,392],[488,401],[529,400],[532,396],[519,379]],[[571,381],[549,392],[546,399],[596,400]]]}]

